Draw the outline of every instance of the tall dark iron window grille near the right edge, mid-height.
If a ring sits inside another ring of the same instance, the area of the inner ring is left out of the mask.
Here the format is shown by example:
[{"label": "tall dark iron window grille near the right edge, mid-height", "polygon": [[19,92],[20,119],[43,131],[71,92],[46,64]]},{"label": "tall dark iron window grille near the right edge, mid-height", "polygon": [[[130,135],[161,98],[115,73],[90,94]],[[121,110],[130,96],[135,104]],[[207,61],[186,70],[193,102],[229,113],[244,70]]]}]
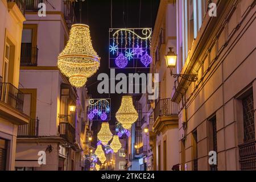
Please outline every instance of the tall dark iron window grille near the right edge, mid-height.
[{"label": "tall dark iron window grille near the right edge, mid-height", "polygon": [[250,94],[242,100],[243,104],[243,142],[255,140],[254,127],[254,102],[253,94]]}]

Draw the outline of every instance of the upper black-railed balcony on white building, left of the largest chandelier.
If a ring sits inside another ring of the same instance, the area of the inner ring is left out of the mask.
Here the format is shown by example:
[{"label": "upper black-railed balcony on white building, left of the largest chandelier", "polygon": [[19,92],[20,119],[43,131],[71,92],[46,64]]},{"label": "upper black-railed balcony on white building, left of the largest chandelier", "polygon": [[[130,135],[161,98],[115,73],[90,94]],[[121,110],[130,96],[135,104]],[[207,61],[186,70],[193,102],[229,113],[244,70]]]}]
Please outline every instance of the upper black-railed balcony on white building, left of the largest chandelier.
[{"label": "upper black-railed balcony on white building, left of the largest chandelier", "polygon": [[38,65],[38,48],[31,43],[22,43],[20,51],[20,66],[36,67]]}]

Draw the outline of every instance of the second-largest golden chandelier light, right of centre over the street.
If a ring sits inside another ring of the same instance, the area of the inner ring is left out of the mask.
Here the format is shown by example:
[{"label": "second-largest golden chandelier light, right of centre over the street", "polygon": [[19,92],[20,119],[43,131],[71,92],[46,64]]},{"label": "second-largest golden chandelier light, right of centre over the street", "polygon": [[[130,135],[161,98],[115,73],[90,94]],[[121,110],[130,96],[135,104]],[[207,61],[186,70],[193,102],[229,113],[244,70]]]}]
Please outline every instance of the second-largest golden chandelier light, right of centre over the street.
[{"label": "second-largest golden chandelier light, right of centre over the street", "polygon": [[131,125],[138,119],[138,113],[133,106],[131,96],[123,96],[121,106],[115,114],[115,118],[117,118],[117,121],[127,130],[129,130]]}]

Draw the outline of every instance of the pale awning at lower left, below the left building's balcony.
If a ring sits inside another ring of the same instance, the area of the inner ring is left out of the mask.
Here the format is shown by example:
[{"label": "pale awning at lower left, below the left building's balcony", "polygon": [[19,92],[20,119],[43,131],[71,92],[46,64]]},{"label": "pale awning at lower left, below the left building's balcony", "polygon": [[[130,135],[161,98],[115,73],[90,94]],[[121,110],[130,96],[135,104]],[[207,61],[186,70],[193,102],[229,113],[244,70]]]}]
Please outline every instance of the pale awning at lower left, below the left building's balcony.
[{"label": "pale awning at lower left, below the left building's balcony", "polygon": [[46,151],[47,146],[18,144],[16,147],[15,167],[40,167],[38,164],[39,151]]}]

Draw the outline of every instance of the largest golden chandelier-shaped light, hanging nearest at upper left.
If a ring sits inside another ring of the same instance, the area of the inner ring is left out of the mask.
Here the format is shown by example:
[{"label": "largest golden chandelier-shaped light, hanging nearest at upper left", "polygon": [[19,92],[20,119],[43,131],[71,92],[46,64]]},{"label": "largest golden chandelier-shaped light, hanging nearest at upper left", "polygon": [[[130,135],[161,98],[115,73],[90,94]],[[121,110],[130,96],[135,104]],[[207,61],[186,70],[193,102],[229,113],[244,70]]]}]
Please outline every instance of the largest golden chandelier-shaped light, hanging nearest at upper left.
[{"label": "largest golden chandelier-shaped light, hanging nearest at upper left", "polygon": [[99,67],[100,57],[93,49],[89,26],[73,24],[67,46],[58,57],[60,72],[69,78],[71,85],[80,88]]}]

